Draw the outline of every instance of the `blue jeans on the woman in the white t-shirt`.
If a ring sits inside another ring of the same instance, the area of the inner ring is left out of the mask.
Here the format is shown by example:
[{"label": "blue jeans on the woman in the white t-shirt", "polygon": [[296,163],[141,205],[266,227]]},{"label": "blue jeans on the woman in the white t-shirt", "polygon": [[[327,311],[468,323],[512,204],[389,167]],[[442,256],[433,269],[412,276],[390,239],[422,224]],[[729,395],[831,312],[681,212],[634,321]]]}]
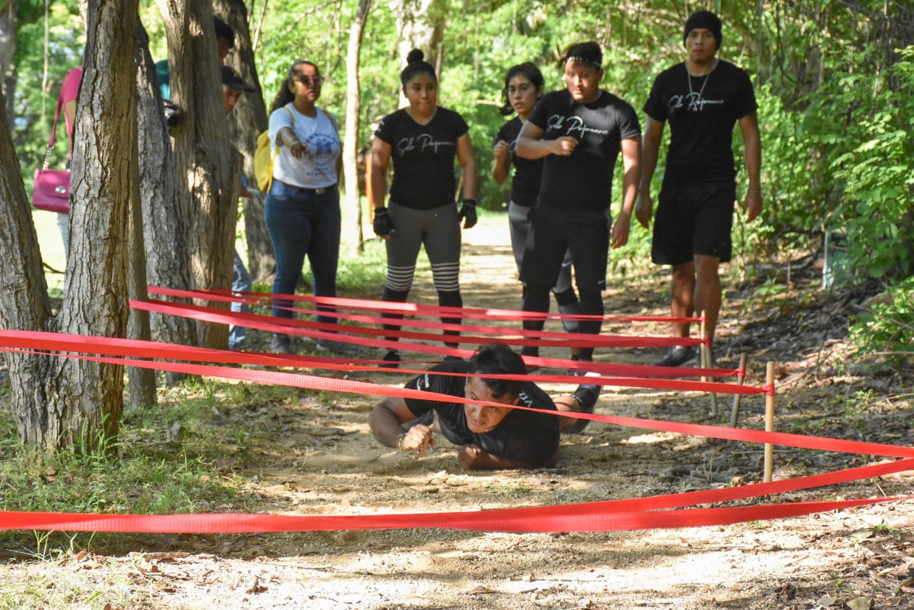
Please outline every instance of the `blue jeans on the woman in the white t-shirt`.
[{"label": "blue jeans on the woman in the white t-shirt", "polygon": [[[274,179],[264,206],[276,257],[273,294],[294,294],[307,254],[314,296],[336,296],[340,253],[340,196],[336,186],[318,193]],[[284,308],[291,306],[288,299],[273,299],[273,316],[291,318],[292,312]],[[318,309],[332,311],[333,307]],[[335,323],[336,318],[317,316],[317,321]]]}]

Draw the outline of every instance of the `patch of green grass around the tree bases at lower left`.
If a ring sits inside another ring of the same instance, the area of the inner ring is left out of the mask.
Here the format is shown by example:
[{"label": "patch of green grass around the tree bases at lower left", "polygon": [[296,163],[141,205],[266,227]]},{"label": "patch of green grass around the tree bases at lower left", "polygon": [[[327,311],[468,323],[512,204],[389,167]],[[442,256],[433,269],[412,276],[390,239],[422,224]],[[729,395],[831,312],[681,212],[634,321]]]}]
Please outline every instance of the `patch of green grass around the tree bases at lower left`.
[{"label": "patch of green grass around the tree bases at lower left", "polygon": [[[297,400],[298,391],[292,388],[190,378],[161,390],[153,409],[128,406],[119,437],[86,453],[24,446],[10,409],[5,408],[0,412],[0,509],[101,514],[250,511],[256,497],[234,468],[247,461],[244,440],[251,421]],[[0,404],[9,405],[5,386]],[[48,548],[87,548],[90,541],[117,546],[127,538],[5,531],[0,532],[0,546],[16,557],[30,557],[48,555]]]}]

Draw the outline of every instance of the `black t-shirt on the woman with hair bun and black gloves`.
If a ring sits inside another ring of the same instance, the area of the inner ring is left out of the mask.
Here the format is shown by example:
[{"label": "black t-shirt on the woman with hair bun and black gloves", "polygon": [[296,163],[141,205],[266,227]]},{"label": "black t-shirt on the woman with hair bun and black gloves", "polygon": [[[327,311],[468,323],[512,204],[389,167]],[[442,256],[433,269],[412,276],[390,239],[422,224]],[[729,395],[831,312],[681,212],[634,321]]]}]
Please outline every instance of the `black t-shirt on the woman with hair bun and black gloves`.
[{"label": "black t-shirt on the woman with hair bun and black gloves", "polygon": [[391,148],[390,199],[411,209],[453,205],[457,139],[468,130],[460,114],[441,106],[425,125],[413,121],[405,108],[384,117],[375,135]]}]

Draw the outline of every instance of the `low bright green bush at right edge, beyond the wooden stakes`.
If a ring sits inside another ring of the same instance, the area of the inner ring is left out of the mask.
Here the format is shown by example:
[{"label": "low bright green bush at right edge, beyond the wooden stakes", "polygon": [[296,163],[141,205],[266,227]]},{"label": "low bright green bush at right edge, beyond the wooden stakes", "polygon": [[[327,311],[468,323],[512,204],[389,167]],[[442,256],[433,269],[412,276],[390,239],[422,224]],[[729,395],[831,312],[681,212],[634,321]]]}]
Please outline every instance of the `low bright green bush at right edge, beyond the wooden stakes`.
[{"label": "low bright green bush at right edge, beyond the wooden stakes", "polygon": [[914,276],[889,288],[851,326],[857,356],[883,356],[890,364],[914,364]]}]

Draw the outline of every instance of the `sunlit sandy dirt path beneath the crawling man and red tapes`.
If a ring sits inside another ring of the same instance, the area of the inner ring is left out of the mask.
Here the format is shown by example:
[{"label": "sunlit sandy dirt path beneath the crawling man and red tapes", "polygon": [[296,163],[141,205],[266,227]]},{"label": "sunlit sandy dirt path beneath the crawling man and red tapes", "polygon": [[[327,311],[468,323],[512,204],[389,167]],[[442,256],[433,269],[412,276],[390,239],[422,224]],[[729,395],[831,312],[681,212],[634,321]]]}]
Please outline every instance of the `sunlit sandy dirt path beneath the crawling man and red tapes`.
[{"label": "sunlit sandy dirt path beneath the crawling man and red tapes", "polygon": [[[506,230],[465,235],[472,242],[462,263],[464,302],[516,307],[519,291]],[[608,312],[665,315],[663,273],[639,276],[636,290],[633,282],[611,286]],[[914,445],[911,371],[864,375],[855,368],[845,338],[847,303],[821,299],[811,308],[793,309],[796,304],[787,299],[747,305],[752,290],[729,287],[717,358],[731,366],[748,353],[748,382],[755,385],[763,382],[764,363],[777,360],[780,430]],[[430,278],[420,278],[417,293],[430,302]],[[608,324],[605,330],[666,332],[646,324]],[[650,363],[657,354],[616,350],[600,359]],[[403,381],[381,372],[361,379]],[[759,445],[602,423],[565,437],[558,468],[466,473],[447,446],[413,461],[374,443],[366,423],[372,404],[303,392],[291,404],[222,405],[225,417],[246,421],[250,430],[223,466],[249,479],[259,511],[305,515],[572,504],[756,482],[761,476]],[[715,420],[704,395],[608,388],[597,412],[724,423],[730,398],[720,405],[722,415]],[[760,428],[762,414],[760,398],[746,399],[740,425]],[[775,477],[876,459],[779,449]],[[909,473],[743,504],[908,494],[912,483]],[[72,557],[60,570],[94,581],[101,591],[91,603],[68,607],[101,608],[110,596],[131,600],[122,606],[133,608],[910,608],[912,525],[914,502],[902,502],[678,530],[162,536],[130,553],[98,549]],[[5,570],[16,578],[29,571],[48,577],[36,564]]]}]

